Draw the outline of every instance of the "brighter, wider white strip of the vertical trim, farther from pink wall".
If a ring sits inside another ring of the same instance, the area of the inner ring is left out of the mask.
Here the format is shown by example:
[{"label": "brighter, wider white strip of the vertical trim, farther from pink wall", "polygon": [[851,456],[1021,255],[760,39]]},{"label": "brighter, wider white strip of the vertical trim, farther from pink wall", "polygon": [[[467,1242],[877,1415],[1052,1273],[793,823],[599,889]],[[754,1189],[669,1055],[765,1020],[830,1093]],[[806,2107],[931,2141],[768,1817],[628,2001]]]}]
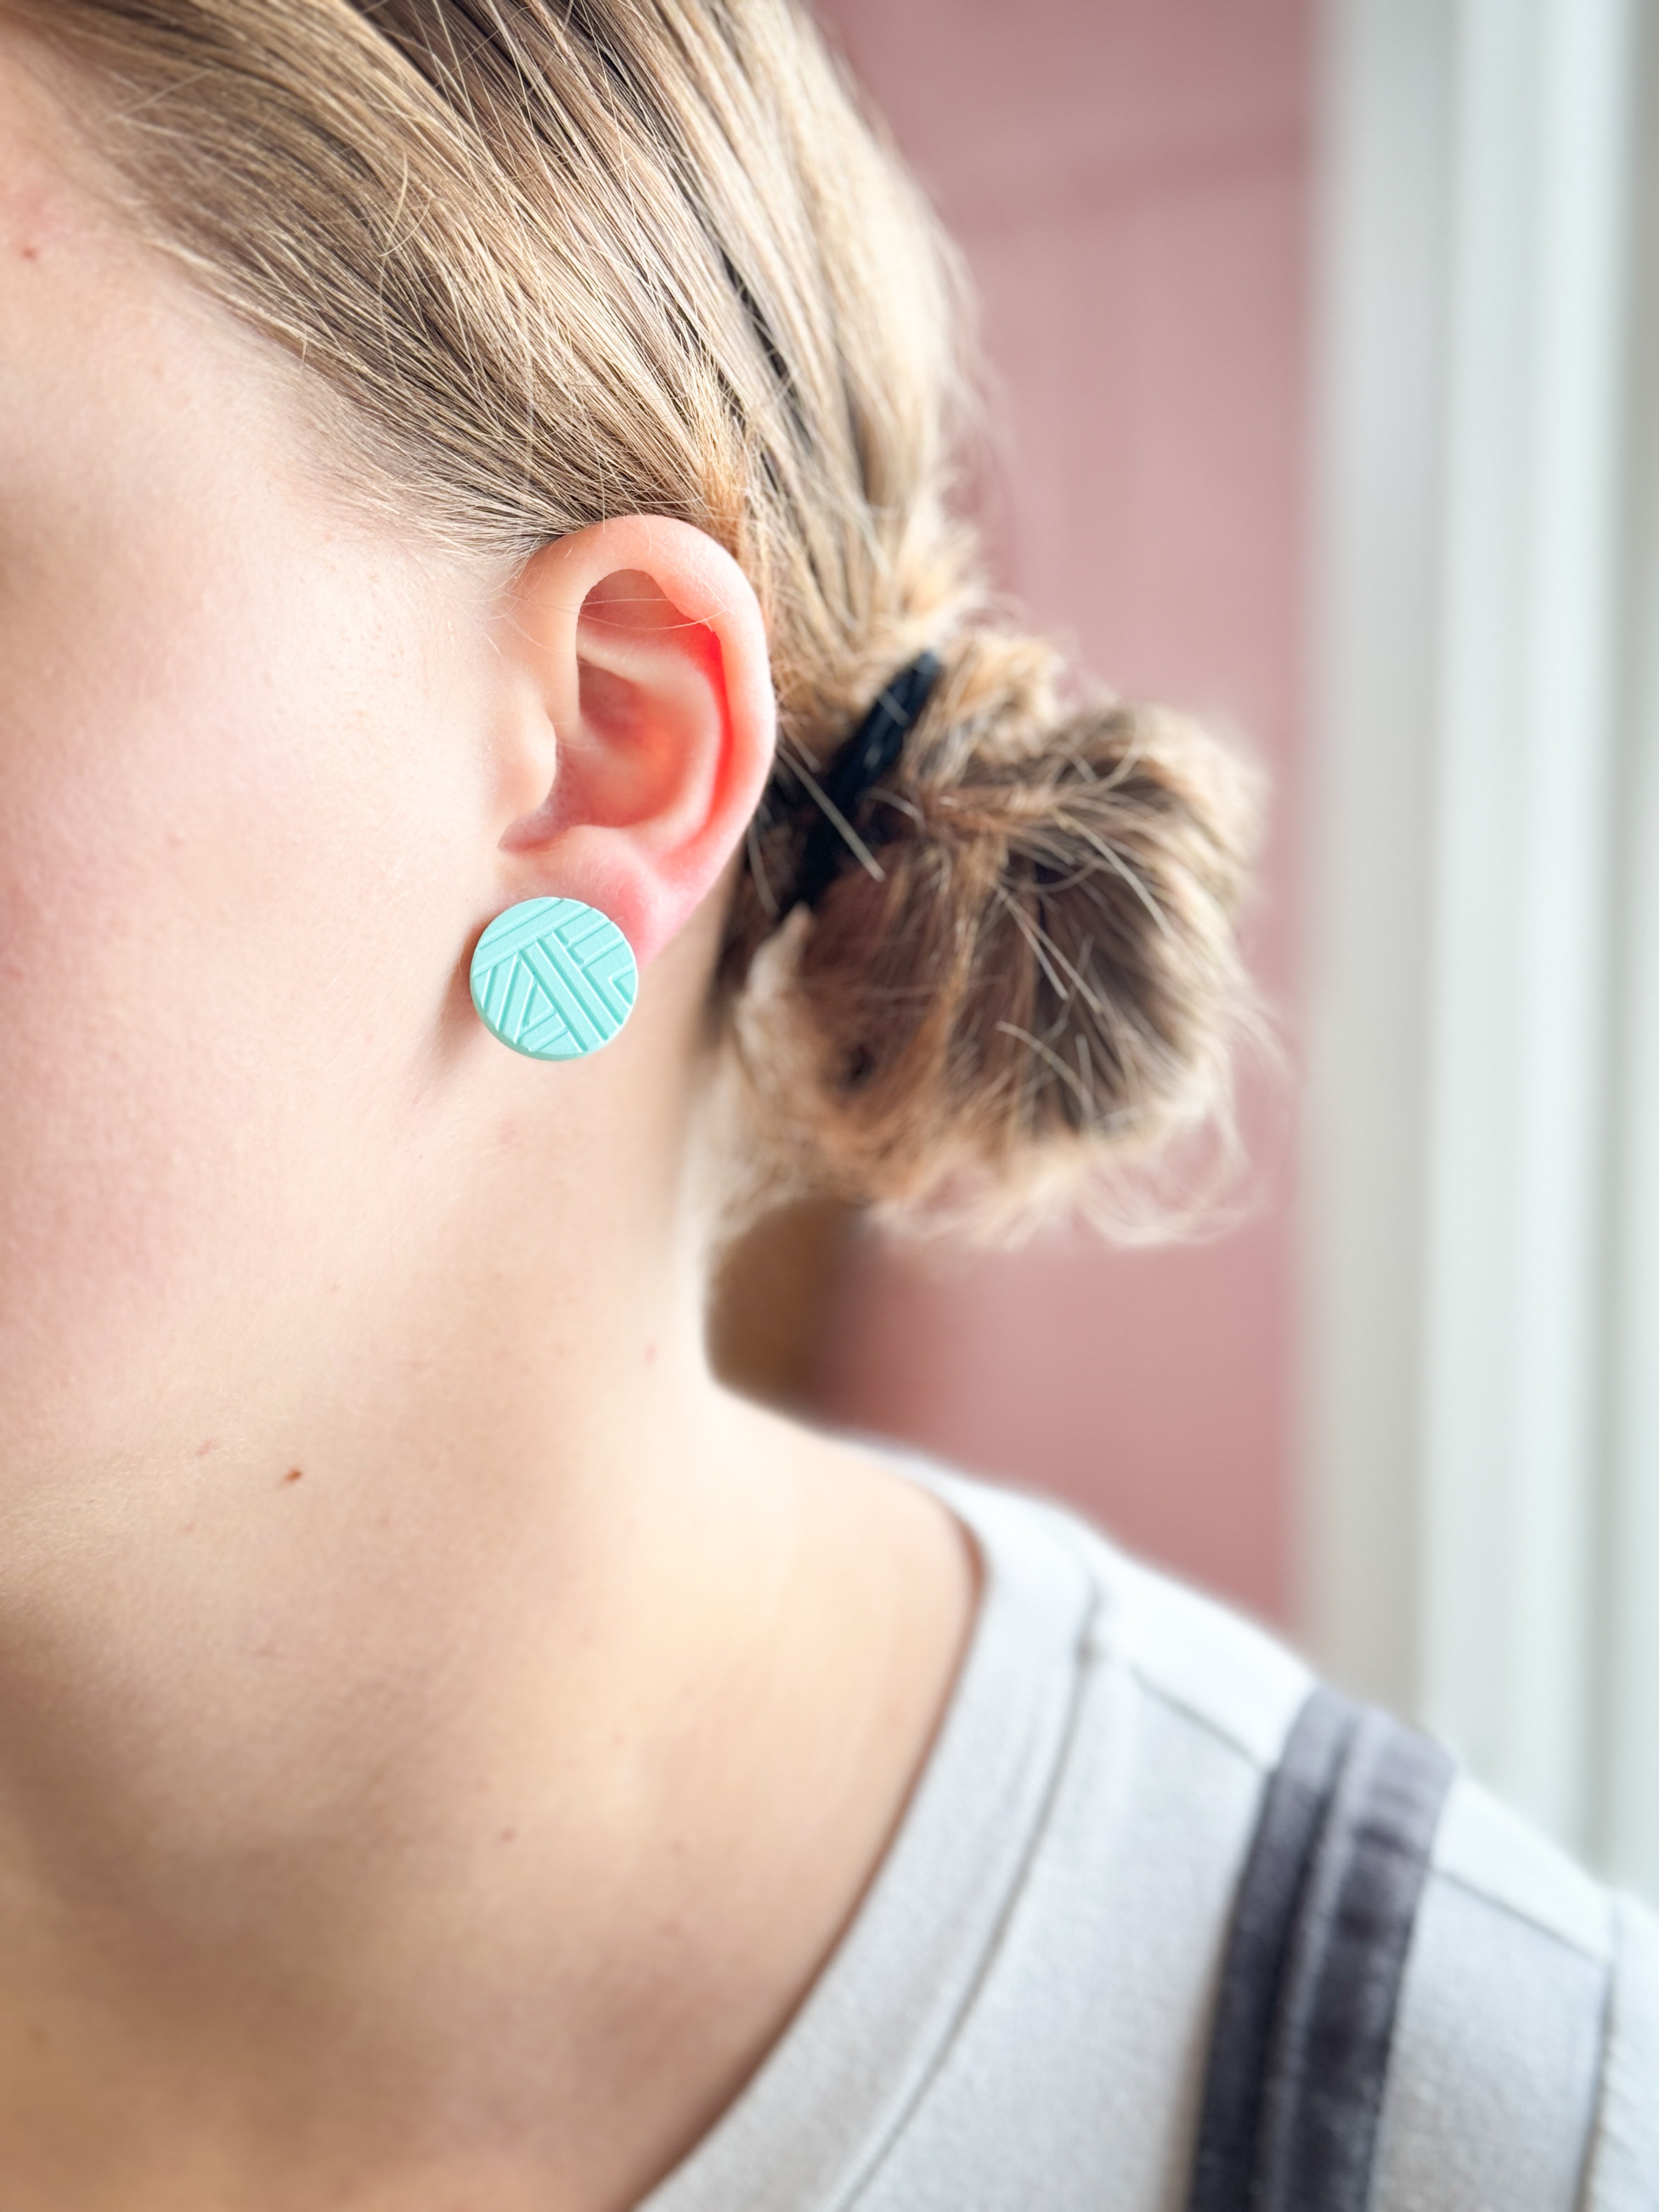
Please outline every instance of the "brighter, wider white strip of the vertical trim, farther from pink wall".
[{"label": "brighter, wider white strip of the vertical trim, farther from pink wall", "polygon": [[1458,13],[1422,1710],[1582,1843],[1628,0]]}]

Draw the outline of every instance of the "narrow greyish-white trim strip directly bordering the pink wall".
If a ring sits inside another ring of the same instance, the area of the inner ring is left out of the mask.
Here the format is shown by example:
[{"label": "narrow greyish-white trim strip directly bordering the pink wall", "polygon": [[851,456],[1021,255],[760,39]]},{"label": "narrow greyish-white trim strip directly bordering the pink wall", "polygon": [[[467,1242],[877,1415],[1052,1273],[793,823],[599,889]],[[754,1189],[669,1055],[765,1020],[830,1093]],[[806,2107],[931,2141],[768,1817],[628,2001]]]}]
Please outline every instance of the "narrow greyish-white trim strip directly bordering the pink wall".
[{"label": "narrow greyish-white trim strip directly bordering the pink wall", "polygon": [[1453,20],[1340,0],[1323,60],[1301,1582],[1329,1672],[1416,1710]]}]

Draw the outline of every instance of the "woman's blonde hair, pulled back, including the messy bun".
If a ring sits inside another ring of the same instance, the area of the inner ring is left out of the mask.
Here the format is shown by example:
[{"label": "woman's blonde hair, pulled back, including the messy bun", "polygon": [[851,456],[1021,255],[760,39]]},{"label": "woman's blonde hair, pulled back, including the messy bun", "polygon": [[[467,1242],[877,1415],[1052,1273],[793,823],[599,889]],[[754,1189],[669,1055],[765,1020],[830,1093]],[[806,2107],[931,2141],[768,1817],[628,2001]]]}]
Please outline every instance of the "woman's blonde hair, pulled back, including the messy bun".
[{"label": "woman's blonde hair, pulled back, including the messy bun", "polygon": [[[0,13],[104,91],[150,234],[345,403],[365,498],[507,555],[668,513],[743,564],[781,743],[712,1022],[772,1188],[1006,1228],[1225,1113],[1250,779],[989,604],[956,259],[794,0]],[[790,911],[816,779],[927,646],[874,865]]]}]

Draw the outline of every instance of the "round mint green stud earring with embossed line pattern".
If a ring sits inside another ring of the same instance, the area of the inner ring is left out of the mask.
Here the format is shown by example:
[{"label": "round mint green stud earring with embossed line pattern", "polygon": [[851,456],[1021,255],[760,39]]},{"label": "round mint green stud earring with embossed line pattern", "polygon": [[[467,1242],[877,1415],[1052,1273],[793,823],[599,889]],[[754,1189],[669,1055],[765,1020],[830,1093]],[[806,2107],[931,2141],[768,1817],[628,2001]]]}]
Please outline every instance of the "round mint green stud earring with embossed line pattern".
[{"label": "round mint green stud earring with embossed line pattern", "polygon": [[633,947],[580,898],[524,898],[498,914],[473,953],[473,1006],[491,1035],[531,1060],[582,1060],[633,1013]]}]

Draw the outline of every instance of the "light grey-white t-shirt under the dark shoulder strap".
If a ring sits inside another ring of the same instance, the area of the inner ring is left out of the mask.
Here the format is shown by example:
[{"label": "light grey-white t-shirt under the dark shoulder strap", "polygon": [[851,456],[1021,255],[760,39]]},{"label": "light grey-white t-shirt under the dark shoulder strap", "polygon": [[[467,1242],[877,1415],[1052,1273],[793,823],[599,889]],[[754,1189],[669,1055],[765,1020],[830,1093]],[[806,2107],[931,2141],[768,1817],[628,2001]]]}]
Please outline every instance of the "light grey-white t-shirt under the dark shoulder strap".
[{"label": "light grey-white t-shirt under the dark shoulder strap", "polygon": [[[641,2212],[1181,2212],[1263,1783],[1310,1690],[1060,1506],[907,1467],[984,1562],[898,1836]],[[1453,1783],[1374,2212],[1659,2212],[1659,1922]]]}]

